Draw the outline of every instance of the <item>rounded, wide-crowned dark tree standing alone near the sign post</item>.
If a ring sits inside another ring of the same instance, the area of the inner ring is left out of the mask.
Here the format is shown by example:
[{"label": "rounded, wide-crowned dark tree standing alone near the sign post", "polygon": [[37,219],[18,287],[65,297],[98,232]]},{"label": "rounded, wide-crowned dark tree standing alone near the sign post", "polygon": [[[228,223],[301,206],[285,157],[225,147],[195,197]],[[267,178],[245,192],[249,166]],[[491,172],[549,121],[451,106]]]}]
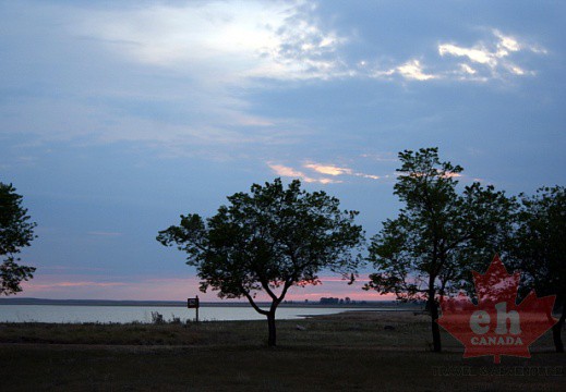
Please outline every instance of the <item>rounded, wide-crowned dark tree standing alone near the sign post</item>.
[{"label": "rounded, wide-crowned dark tree standing alone near the sign post", "polygon": [[[177,244],[196,266],[201,291],[218,291],[220,298],[245,297],[266,316],[268,345],[276,345],[275,313],[289,287],[320,283],[317,274],[329,269],[346,275],[361,257],[353,252],[363,241],[357,211],[339,209],[339,200],[324,192],[308,193],[299,180],[287,189],[280,179],[251,194],[228,197],[229,205],[206,220],[195,213],[181,216],[180,225],[160,231],[157,241]],[[255,297],[264,292],[268,309]]]}]

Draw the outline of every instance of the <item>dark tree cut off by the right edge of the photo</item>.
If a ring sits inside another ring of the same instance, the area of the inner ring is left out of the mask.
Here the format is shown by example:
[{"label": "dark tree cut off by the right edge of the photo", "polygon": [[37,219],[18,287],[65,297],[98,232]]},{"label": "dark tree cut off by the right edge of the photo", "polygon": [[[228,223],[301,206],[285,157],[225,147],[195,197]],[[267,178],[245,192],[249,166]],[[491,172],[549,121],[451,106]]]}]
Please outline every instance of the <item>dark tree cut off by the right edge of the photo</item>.
[{"label": "dark tree cut off by the right edge of the photo", "polygon": [[553,340],[556,352],[564,353],[561,331],[566,320],[566,188],[541,187],[531,197],[521,194],[520,199],[510,257],[523,272],[522,294],[534,289],[538,295],[556,295],[562,314],[553,326]]}]

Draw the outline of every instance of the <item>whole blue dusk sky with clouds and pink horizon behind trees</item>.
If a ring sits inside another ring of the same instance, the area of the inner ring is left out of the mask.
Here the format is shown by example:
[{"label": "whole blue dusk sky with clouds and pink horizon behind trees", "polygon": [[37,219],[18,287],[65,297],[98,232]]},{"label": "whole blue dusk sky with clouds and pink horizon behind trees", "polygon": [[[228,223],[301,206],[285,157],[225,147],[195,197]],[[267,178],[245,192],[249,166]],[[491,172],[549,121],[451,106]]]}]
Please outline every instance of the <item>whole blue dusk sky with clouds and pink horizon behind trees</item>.
[{"label": "whole blue dusk sky with clouds and pink horizon behind trees", "polygon": [[[0,182],[38,223],[19,296],[198,294],[159,230],[280,176],[400,207],[397,154],[565,185],[563,1],[0,1]],[[371,267],[363,271],[370,272]],[[378,299],[329,272],[289,299]]]}]

